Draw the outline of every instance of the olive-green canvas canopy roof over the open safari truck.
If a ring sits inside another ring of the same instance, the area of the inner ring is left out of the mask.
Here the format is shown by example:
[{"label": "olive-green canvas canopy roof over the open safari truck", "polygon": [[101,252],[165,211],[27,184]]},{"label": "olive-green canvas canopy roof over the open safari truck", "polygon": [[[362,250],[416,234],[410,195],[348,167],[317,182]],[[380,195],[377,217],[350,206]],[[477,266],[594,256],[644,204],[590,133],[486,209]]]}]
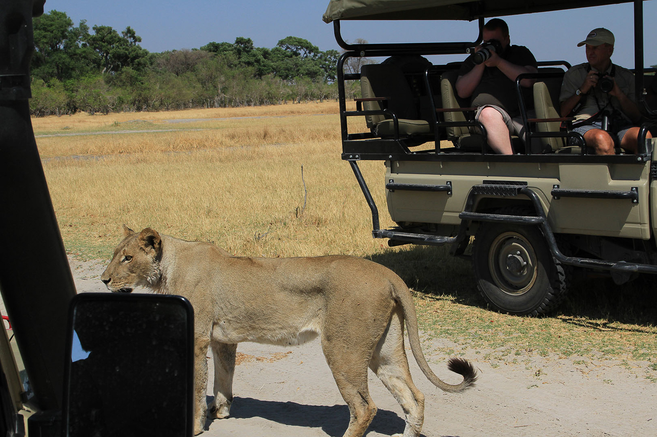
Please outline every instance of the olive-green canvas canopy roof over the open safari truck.
[{"label": "olive-green canvas canopy roof over the open safari truck", "polygon": [[476,20],[631,0],[330,0],[323,20]]}]

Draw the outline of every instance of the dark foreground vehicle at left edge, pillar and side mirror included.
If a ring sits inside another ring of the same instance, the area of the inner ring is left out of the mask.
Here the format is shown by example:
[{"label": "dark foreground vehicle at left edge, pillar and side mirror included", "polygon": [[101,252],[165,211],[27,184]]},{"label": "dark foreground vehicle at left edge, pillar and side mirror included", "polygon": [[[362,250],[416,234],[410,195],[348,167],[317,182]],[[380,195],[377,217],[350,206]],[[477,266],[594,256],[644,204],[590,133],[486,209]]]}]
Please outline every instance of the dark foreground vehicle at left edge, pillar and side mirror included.
[{"label": "dark foreground vehicle at left edge, pillar and side mirror included", "polygon": [[191,436],[189,302],[76,295],[28,106],[43,3],[0,1],[0,291],[12,327],[0,333],[0,435]]}]

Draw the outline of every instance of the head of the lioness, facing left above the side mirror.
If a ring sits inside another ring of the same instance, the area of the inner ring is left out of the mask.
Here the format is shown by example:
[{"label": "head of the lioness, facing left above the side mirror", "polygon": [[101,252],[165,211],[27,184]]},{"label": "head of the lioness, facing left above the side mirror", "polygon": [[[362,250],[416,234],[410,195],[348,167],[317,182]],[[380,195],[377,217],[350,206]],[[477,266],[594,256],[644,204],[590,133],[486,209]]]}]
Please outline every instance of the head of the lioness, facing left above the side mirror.
[{"label": "head of the lioness, facing left above the side mirror", "polygon": [[160,234],[151,228],[135,232],[124,224],[124,236],[101,281],[110,291],[120,293],[130,293],[135,287],[154,287],[162,276]]}]

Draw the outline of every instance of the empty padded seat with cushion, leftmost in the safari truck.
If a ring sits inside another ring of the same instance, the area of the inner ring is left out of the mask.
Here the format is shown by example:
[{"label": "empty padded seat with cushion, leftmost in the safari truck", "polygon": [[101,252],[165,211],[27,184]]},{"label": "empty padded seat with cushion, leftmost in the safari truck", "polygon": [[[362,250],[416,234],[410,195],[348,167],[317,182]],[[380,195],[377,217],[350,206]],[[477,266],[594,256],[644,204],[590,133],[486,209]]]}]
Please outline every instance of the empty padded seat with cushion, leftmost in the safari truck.
[{"label": "empty padded seat with cushion, leftmost in the safari truck", "polygon": [[[361,68],[361,93],[363,98],[380,98],[363,102],[363,110],[387,109],[396,115],[399,136],[432,138],[433,126],[420,119],[413,92],[403,73],[396,65],[368,64]],[[376,136],[395,135],[394,121],[386,115],[365,115],[367,127]]]}]

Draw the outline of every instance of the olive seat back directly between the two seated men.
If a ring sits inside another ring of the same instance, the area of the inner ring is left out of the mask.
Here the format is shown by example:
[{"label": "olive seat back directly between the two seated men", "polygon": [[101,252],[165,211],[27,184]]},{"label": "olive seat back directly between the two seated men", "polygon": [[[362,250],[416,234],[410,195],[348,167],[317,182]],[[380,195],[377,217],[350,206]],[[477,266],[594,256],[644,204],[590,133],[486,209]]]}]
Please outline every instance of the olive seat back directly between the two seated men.
[{"label": "olive seat back directly between the two seated men", "polygon": [[[547,69],[541,69],[545,72]],[[555,70],[562,72],[563,70]],[[559,114],[559,93],[561,91],[562,77],[545,78],[537,81],[533,85],[533,100],[536,118],[558,118]],[[535,131],[537,132],[558,132],[560,129],[559,121],[541,121],[536,123]],[[539,150],[557,151],[566,146],[564,138],[533,138],[533,141],[539,142]]]}]

